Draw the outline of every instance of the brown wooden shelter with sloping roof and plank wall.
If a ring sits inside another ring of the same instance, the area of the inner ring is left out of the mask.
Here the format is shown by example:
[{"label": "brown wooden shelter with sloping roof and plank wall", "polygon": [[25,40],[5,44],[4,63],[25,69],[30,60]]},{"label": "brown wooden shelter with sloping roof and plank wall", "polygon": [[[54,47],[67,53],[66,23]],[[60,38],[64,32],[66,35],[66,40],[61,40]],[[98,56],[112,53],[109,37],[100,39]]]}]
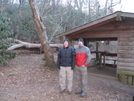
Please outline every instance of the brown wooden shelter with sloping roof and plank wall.
[{"label": "brown wooden shelter with sloping roof and plank wall", "polygon": [[117,11],[95,21],[56,35],[73,41],[83,38],[85,42],[116,40],[116,77],[125,84],[134,85],[134,13]]}]

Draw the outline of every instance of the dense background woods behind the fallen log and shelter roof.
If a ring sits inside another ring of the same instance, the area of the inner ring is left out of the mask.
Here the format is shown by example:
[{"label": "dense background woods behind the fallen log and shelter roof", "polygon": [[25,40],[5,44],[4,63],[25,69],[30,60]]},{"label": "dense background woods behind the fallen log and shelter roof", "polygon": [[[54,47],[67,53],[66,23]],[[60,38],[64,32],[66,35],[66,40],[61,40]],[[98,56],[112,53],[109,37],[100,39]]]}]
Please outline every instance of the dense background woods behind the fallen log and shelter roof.
[{"label": "dense background woods behind the fallen log and shelter roof", "polygon": [[[54,39],[54,35],[113,13],[114,6],[121,3],[121,0],[118,2],[106,0],[104,5],[101,5],[99,0],[35,0],[35,2],[39,8],[40,20],[45,25],[45,39],[49,43],[60,43],[62,41]],[[0,39],[3,39],[0,46],[6,38],[30,43],[41,42],[28,0],[0,0],[0,18],[0,22],[4,22],[0,26]],[[7,48],[11,45],[8,44]],[[0,51],[2,48],[1,46]]]}]

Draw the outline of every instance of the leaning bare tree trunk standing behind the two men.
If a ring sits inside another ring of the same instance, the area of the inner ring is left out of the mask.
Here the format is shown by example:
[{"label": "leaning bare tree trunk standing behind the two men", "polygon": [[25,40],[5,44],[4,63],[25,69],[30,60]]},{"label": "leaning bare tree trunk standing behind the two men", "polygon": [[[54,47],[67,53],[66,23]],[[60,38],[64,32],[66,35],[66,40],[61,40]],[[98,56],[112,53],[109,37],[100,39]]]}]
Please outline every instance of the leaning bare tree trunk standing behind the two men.
[{"label": "leaning bare tree trunk standing behind the two men", "polygon": [[52,67],[52,68],[56,67],[56,64],[54,61],[54,56],[52,54],[49,42],[47,40],[46,28],[44,27],[43,22],[41,20],[38,7],[35,3],[35,0],[29,0],[29,3],[30,3],[32,13],[33,13],[34,23],[36,25],[36,28],[37,28],[37,31],[39,33],[39,37],[41,40],[41,45],[42,45],[42,49],[44,51],[46,65],[48,67]]}]

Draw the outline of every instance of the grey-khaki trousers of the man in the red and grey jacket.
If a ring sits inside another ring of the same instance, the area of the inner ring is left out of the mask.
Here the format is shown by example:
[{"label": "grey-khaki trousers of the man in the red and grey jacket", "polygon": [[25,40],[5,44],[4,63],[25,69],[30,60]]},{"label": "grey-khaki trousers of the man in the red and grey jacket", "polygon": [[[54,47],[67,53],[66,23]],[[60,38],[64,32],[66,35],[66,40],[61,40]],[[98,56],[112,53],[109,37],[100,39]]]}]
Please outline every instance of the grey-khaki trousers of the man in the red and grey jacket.
[{"label": "grey-khaki trousers of the man in the red and grey jacket", "polygon": [[78,81],[78,91],[87,92],[87,67],[75,65],[75,77]]}]

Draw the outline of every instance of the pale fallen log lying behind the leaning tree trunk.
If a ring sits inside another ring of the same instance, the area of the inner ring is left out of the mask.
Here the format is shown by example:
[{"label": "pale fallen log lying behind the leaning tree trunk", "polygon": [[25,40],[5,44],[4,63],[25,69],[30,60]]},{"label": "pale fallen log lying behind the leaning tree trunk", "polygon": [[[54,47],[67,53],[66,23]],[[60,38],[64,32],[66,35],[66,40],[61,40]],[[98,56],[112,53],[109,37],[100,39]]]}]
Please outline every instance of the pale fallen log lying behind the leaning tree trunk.
[{"label": "pale fallen log lying behind the leaning tree trunk", "polygon": [[[28,49],[28,50],[40,50],[42,51],[41,44],[28,43],[20,40],[14,40],[15,44],[10,46],[6,51],[12,51],[16,49]],[[63,44],[50,44],[51,48],[61,48]]]}]

